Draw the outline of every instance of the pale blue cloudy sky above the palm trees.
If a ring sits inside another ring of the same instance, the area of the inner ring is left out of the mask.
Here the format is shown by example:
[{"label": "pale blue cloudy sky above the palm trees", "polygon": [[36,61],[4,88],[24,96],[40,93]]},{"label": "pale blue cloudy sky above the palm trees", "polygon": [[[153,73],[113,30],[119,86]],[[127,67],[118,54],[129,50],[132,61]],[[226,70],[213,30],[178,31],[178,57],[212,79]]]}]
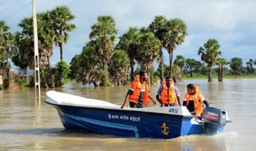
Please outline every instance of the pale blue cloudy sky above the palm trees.
[{"label": "pale blue cloudy sky above the palm trees", "polygon": [[[199,47],[209,38],[215,38],[221,45],[220,58],[230,61],[237,57],[243,66],[250,59],[256,60],[256,1],[255,0],[35,0],[36,12],[53,10],[66,5],[76,16],[77,28],[70,32],[70,39],[64,45],[63,60],[68,64],[89,41],[92,24],[99,15],[111,15],[118,29],[117,37],[122,36],[130,26],[141,28],[154,20],[156,15],[167,19],[184,20],[188,36],[173,53],[200,61]],[[17,24],[24,17],[33,15],[31,0],[0,0],[0,20],[4,20],[10,31],[20,28]],[[118,38],[116,39],[118,42]],[[164,51],[164,63],[169,65],[169,54]],[[60,48],[54,47],[51,63],[60,61]]]}]

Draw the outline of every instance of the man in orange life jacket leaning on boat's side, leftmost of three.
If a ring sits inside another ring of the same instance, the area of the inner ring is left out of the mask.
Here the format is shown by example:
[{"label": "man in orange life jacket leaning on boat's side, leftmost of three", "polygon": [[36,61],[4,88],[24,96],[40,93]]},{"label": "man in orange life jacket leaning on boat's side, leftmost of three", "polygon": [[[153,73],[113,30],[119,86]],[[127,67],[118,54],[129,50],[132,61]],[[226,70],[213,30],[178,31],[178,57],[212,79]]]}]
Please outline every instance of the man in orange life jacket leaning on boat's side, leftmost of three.
[{"label": "man in orange life jacket leaning on boat's side, leftmost of three", "polygon": [[[122,109],[124,107],[128,107],[127,106],[128,100],[129,100],[129,105],[132,108],[142,108],[144,106],[147,106],[148,98],[150,99],[151,97],[148,94],[147,79],[148,79],[148,74],[143,71],[140,72],[140,76],[136,76],[136,79],[132,82],[130,89],[127,91],[124,104],[121,106]],[[152,101],[156,102],[153,99]]]}]

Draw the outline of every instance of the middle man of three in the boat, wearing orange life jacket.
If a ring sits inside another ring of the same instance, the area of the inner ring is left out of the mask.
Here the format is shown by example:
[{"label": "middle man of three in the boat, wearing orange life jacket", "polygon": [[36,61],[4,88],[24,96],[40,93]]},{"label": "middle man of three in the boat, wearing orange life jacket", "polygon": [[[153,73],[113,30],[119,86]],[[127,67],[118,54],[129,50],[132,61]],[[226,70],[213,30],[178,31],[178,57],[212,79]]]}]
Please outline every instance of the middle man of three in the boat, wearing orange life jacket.
[{"label": "middle man of three in the boat, wearing orange life jacket", "polygon": [[180,106],[180,92],[177,86],[173,85],[172,77],[168,76],[165,78],[165,82],[158,88],[156,99],[164,106],[176,106],[176,100]]}]

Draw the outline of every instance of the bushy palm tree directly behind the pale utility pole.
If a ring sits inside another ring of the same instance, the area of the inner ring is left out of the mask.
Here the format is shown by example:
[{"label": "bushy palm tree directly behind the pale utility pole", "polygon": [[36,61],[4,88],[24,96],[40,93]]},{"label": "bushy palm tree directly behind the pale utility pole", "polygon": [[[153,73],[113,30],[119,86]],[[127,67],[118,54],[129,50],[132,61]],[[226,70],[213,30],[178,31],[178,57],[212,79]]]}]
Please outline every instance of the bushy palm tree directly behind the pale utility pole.
[{"label": "bushy palm tree directly behind the pale utility pole", "polygon": [[[52,45],[54,44],[52,32],[49,28],[49,20],[45,20],[45,13],[37,14],[38,22],[38,54],[39,67],[42,85],[48,87],[45,79],[45,69],[49,67],[49,58],[52,56]],[[33,18],[24,18],[18,24],[22,31],[15,33],[15,44],[19,52],[17,58],[26,60],[29,67],[33,69],[34,65],[34,37],[33,37]],[[19,61],[19,60],[18,60]],[[20,61],[23,63],[23,61]]]}]

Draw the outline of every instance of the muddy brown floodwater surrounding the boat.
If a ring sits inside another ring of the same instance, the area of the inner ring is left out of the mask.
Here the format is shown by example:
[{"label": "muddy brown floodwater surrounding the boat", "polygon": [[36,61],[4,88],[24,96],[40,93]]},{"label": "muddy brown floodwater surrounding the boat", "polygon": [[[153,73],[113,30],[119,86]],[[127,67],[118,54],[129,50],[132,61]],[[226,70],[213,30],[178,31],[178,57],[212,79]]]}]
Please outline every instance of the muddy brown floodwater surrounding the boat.
[{"label": "muddy brown floodwater surrounding the boat", "polygon": [[[164,140],[67,131],[56,109],[44,103],[48,90],[41,89],[40,99],[35,99],[33,88],[0,90],[0,150],[255,150],[256,79],[225,79],[222,83],[216,79],[212,83],[207,79],[184,80],[176,84],[182,98],[189,83],[198,84],[211,106],[228,112],[232,123],[227,123],[224,132]],[[150,86],[152,96],[158,87]],[[68,83],[65,88],[54,90],[122,105],[128,89],[129,86],[94,88]],[[159,104],[150,102],[148,107],[155,106]]]}]

